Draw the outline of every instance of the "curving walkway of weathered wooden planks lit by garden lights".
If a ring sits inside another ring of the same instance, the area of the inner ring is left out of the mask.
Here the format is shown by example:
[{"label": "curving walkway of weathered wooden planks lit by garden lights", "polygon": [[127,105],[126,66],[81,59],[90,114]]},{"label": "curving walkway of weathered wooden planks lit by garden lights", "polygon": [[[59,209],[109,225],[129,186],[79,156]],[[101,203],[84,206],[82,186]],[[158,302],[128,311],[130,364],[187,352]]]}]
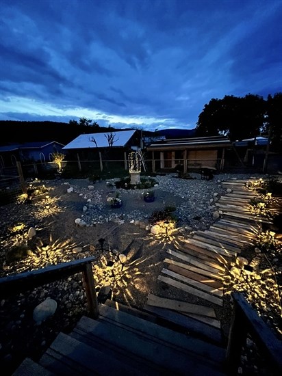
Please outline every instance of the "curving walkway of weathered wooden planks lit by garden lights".
[{"label": "curving walkway of weathered wooden planks lit by garden lights", "polygon": [[220,327],[216,318],[205,314],[205,309],[211,306],[222,307],[222,278],[226,270],[240,255],[242,247],[255,241],[260,224],[269,223],[250,213],[248,206],[256,194],[245,186],[247,181],[222,182],[231,191],[216,203],[218,210],[222,211],[221,218],[208,230],[198,230],[192,237],[176,241],[173,247],[166,250],[168,256],[164,263],[167,266],[162,269],[158,280],[191,294],[193,301],[198,301],[198,304],[190,305],[190,311],[187,312],[181,301],[169,301],[149,295],[145,306],[147,310],[154,313],[159,310],[164,316],[164,308],[167,308],[177,314],[185,314]]}]

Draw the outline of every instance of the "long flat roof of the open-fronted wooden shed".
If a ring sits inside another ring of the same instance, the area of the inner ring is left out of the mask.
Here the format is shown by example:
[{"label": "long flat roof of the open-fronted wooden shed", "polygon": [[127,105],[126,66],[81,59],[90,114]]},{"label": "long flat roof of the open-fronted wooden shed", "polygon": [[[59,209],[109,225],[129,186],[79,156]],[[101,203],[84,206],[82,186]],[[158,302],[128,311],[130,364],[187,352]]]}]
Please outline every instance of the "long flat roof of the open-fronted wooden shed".
[{"label": "long flat roof of the open-fronted wooden shed", "polygon": [[147,147],[147,150],[183,150],[195,148],[218,148],[231,146],[230,140],[225,136],[191,137],[182,139],[167,139],[155,142]]}]

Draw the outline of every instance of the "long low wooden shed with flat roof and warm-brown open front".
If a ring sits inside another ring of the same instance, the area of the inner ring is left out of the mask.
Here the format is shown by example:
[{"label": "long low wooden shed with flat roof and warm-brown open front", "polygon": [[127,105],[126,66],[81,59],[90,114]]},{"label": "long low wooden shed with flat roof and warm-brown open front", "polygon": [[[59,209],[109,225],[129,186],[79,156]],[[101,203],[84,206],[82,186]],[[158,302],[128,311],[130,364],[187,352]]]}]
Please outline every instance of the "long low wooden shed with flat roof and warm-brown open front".
[{"label": "long low wooden shed with flat roof and warm-brown open front", "polygon": [[187,172],[191,168],[215,167],[223,170],[225,149],[231,148],[225,136],[166,139],[147,146],[151,153],[153,172]]}]

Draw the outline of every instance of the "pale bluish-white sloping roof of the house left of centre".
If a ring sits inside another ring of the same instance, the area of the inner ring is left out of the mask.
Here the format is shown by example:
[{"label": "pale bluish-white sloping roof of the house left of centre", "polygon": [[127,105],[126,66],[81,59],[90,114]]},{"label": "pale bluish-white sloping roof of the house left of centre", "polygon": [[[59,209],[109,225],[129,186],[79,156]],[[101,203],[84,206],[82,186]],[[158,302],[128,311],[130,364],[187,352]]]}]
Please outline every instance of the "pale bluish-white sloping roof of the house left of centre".
[{"label": "pale bluish-white sloping roof of the house left of centre", "polygon": [[[87,133],[85,135],[79,135],[77,138],[73,139],[69,144],[66,144],[63,150],[71,149],[85,149],[85,148],[108,148],[109,143],[107,141],[107,135],[113,133],[114,144],[113,147],[123,147],[129,142],[129,139],[136,133],[136,130],[132,131],[117,131],[117,132],[106,132],[106,133]],[[94,139],[96,144],[90,139]]]}]

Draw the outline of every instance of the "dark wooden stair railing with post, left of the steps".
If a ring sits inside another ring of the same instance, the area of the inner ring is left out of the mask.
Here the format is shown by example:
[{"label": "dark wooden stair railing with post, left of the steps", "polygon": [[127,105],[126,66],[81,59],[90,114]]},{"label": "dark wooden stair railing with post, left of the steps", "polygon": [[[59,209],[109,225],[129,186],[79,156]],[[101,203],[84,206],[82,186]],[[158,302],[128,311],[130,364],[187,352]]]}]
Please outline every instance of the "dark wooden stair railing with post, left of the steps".
[{"label": "dark wooden stair railing with post, left of the steps", "polygon": [[99,308],[91,266],[94,260],[94,257],[81,258],[80,260],[71,261],[70,263],[52,265],[44,269],[26,271],[24,273],[0,278],[0,297],[8,297],[17,293],[33,290],[38,286],[62,280],[63,278],[82,272],[82,281],[86,289],[89,315],[93,319],[97,319],[99,316]]}]

